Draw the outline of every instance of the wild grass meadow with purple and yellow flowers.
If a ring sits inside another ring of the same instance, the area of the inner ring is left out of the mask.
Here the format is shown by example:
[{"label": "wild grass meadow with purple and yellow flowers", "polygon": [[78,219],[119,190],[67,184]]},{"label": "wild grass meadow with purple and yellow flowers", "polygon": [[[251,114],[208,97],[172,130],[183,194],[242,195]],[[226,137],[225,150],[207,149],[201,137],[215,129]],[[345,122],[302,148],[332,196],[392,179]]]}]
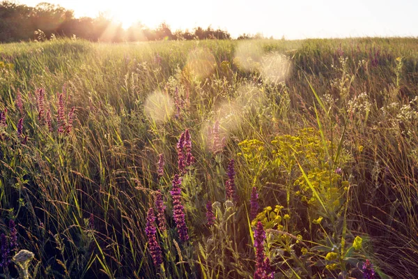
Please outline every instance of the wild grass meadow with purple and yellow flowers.
[{"label": "wild grass meadow with purple and yellow flowers", "polygon": [[417,278],[417,93],[416,38],[0,45],[0,273]]}]

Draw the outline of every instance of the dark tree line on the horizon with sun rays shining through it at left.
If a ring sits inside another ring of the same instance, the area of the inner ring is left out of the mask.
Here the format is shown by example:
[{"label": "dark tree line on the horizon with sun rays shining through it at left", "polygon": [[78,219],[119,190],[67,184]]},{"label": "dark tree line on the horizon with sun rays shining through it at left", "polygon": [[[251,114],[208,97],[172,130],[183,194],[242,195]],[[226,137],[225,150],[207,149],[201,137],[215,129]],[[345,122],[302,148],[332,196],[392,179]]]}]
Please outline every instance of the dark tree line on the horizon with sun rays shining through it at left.
[{"label": "dark tree line on the horizon with sun rays shining through it at left", "polygon": [[51,3],[35,7],[3,1],[0,3],[0,42],[47,40],[52,37],[77,37],[91,41],[123,42],[146,40],[231,39],[221,29],[196,27],[192,31],[172,32],[166,23],[150,29],[140,22],[123,29],[122,24],[100,14],[98,17],[74,16],[74,11]]}]

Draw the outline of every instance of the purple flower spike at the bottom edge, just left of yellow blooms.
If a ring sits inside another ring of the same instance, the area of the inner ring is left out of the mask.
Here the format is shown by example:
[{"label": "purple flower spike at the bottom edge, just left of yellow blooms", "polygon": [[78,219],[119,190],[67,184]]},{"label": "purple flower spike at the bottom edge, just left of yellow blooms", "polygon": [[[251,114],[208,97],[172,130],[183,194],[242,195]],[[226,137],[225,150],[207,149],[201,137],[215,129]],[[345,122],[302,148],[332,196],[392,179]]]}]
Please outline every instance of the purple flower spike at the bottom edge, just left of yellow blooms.
[{"label": "purple flower spike at the bottom edge, just left of yellow blooms", "polygon": [[254,231],[254,247],[256,248],[256,271],[254,279],[274,278],[274,272],[271,271],[270,259],[264,255],[265,232],[263,224],[258,221]]}]

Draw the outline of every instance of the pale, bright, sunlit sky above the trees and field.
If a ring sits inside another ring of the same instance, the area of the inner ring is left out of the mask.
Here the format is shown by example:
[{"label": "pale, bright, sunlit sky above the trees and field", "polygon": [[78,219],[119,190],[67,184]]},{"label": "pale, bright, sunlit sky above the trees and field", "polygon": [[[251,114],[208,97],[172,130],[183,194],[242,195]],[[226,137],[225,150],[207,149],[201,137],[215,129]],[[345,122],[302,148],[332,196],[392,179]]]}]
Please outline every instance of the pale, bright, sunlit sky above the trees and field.
[{"label": "pale, bright, sunlit sky above the trees and field", "polygon": [[141,22],[150,28],[166,22],[171,31],[209,25],[242,33],[286,39],[364,36],[418,37],[418,0],[20,0],[74,10],[76,17],[105,12],[127,28]]}]

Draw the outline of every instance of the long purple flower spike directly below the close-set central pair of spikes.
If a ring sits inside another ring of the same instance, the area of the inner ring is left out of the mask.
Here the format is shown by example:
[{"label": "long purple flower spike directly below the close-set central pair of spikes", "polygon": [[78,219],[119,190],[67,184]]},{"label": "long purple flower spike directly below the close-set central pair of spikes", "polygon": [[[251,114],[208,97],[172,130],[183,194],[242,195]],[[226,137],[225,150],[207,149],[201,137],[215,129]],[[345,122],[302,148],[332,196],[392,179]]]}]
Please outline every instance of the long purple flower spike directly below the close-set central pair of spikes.
[{"label": "long purple flower spike directly below the close-set central pair of spikes", "polygon": [[187,232],[187,225],[185,222],[184,206],[181,204],[181,178],[176,174],[173,179],[173,188],[170,191],[171,197],[173,197],[173,217],[176,222],[178,236],[181,241],[189,240],[189,234]]}]

